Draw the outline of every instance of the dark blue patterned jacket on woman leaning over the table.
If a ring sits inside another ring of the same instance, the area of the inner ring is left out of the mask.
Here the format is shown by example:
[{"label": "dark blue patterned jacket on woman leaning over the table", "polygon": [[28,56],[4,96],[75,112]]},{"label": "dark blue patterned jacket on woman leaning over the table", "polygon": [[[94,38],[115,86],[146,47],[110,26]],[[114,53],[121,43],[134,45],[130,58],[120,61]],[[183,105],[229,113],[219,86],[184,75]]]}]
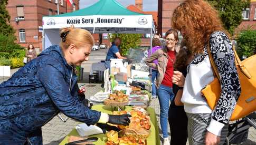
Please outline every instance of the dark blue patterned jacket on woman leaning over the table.
[{"label": "dark blue patterned jacket on woman leaning over the table", "polygon": [[73,67],[54,45],[0,85],[0,144],[42,144],[41,127],[59,111],[88,125],[100,118],[79,99]]}]

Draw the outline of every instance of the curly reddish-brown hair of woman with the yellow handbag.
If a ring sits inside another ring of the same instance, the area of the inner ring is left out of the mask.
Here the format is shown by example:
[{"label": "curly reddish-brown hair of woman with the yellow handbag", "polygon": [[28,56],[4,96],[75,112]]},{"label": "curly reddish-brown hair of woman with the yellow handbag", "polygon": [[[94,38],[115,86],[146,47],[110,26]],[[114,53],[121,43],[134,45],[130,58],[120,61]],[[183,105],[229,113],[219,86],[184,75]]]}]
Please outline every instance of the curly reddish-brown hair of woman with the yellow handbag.
[{"label": "curly reddish-brown hair of woman with the yellow handbag", "polygon": [[219,13],[203,0],[186,0],[173,13],[172,26],[182,32],[193,53],[202,53],[210,36],[216,30],[229,33],[223,28]]}]

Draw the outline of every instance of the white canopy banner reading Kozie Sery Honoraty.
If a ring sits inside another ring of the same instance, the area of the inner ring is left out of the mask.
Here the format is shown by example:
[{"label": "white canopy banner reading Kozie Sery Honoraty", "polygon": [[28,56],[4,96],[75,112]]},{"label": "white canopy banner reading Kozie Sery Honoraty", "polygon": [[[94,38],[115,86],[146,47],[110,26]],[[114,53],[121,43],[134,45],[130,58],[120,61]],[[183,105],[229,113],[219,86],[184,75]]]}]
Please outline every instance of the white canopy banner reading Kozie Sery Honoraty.
[{"label": "white canopy banner reading Kozie Sery Honoraty", "polygon": [[151,28],[153,24],[151,15],[43,17],[43,29],[63,28],[71,25],[77,28]]}]

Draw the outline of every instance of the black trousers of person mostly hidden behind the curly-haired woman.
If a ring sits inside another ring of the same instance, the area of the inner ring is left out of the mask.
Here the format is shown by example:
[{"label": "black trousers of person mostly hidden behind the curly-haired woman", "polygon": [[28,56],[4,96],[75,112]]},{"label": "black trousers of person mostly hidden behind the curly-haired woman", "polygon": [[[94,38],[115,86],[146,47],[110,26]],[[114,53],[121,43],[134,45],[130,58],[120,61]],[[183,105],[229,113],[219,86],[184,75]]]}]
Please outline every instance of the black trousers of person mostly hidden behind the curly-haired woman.
[{"label": "black trousers of person mostly hidden behind the curly-haired woman", "polygon": [[170,105],[168,121],[170,125],[170,145],[186,145],[187,116],[183,106],[173,107]]}]

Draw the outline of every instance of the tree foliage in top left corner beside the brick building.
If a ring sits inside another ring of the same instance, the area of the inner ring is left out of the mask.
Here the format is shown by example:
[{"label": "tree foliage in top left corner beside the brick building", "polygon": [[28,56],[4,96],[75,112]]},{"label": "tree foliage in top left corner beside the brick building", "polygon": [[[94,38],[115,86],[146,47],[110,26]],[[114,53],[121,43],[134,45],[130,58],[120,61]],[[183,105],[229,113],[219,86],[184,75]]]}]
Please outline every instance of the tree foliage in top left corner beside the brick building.
[{"label": "tree foliage in top left corner beside the brick building", "polygon": [[8,0],[0,1],[0,33],[4,35],[14,35],[14,29],[10,25],[10,18],[8,11],[6,10],[6,5]]}]

